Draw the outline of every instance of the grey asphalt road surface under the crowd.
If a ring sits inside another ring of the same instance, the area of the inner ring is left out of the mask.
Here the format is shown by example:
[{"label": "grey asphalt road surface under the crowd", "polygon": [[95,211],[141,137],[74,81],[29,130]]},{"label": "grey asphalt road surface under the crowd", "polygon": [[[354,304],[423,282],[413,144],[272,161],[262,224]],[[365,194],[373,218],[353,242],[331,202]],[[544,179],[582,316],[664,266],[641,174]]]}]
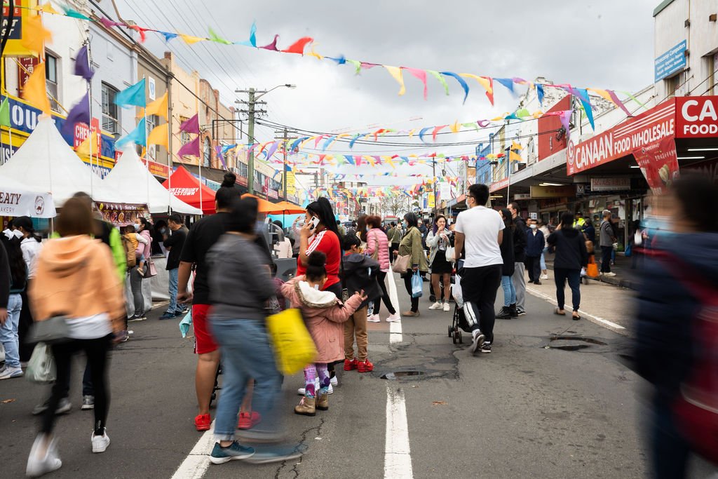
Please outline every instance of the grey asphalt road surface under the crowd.
[{"label": "grey asphalt road surface under the crowd", "polygon": [[[271,465],[208,464],[212,437],[192,424],[192,338],[181,337],[178,320],[157,320],[163,307],[156,306],[148,320],[131,323],[133,338],[112,353],[112,442],[103,454],[91,452],[92,413],[80,411],[83,359],[75,361],[73,411],[57,423],[63,465],[47,477],[646,476],[646,383],[630,369],[630,298],[617,288],[584,288],[584,296],[602,295],[612,307],[625,302],[616,307],[625,312],[615,318],[626,327],[620,330],[593,319],[602,318],[605,299],[585,301],[594,308],[582,308],[592,319],[574,322],[553,315],[546,298],[529,294],[528,315],[497,320],[493,353],[472,356],[469,335],[462,345],[447,335],[454,305],[452,312],[430,312],[425,286],[421,317],[393,326],[370,323],[375,370],[340,371],[329,411],[292,414],[303,378],[285,378],[286,426],[309,450],[301,460]],[[396,287],[406,310],[403,283]],[[533,289],[553,295],[546,286]],[[499,292],[497,304],[501,298]],[[24,476],[37,430],[31,411],[48,391],[24,379],[0,381],[1,477]],[[701,460],[691,461],[691,477],[714,473]]]}]

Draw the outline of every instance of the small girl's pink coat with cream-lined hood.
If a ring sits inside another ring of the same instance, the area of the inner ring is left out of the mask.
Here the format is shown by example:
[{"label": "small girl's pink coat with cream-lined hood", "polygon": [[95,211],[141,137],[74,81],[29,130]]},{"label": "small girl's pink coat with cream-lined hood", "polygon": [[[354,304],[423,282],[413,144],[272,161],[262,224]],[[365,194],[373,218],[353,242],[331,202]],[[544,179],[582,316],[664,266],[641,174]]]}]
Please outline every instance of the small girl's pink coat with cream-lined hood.
[{"label": "small girl's pink coat with cream-lined hood", "polygon": [[281,292],[292,307],[302,310],[304,323],[317,346],[315,363],[333,363],[344,359],[344,325],[358,310],[361,297],[353,295],[342,304],[334,293],[309,286],[304,276],[284,283]]}]

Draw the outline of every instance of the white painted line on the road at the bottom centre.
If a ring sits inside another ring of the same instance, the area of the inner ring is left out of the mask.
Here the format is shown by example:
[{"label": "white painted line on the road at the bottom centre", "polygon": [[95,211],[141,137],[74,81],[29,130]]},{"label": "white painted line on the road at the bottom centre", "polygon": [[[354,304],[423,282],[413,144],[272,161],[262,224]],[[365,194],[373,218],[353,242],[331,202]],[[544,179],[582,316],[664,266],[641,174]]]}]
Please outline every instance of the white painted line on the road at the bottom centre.
[{"label": "white painted line on the road at the bottom centre", "polygon": [[392,389],[387,386],[384,478],[411,479],[413,477],[404,391],[401,388]]}]

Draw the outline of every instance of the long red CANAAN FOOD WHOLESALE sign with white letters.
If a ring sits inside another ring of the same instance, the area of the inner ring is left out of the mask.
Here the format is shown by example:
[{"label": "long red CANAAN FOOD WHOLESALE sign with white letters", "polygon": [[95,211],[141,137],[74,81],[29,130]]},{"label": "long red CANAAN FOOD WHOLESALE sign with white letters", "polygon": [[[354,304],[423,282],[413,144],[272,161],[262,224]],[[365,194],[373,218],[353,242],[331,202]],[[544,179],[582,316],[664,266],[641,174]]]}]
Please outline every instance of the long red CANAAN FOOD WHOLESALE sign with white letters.
[{"label": "long red CANAAN FOOD WHOLESALE sign with white letters", "polygon": [[568,175],[612,162],[653,141],[673,136],[675,113],[676,102],[671,98],[579,144],[569,141],[566,162]]}]

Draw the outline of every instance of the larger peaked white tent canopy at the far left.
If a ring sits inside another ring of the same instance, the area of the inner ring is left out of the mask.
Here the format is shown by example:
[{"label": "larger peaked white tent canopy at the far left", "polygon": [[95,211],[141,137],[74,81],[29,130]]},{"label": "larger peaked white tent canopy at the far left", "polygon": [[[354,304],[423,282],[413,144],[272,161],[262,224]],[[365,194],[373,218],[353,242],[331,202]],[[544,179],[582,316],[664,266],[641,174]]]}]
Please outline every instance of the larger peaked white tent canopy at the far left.
[{"label": "larger peaked white tent canopy at the far left", "polygon": [[30,191],[50,192],[57,207],[76,192],[88,193],[95,201],[128,203],[110,185],[83,164],[57,131],[52,118],[42,115],[32,134],[0,167],[4,184],[27,185]]}]

